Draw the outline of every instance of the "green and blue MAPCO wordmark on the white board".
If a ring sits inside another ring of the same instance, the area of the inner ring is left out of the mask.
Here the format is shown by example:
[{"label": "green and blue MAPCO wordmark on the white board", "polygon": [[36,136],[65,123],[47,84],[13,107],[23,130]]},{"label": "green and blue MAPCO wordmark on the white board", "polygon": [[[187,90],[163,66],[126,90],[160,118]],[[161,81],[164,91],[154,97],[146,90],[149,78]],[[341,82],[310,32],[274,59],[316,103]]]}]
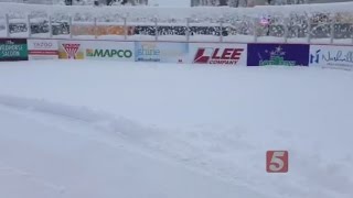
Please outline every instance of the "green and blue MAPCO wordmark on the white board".
[{"label": "green and blue MAPCO wordmark on the white board", "polygon": [[132,51],[129,50],[93,50],[87,48],[86,55],[88,57],[119,57],[119,58],[130,58],[132,56]]}]

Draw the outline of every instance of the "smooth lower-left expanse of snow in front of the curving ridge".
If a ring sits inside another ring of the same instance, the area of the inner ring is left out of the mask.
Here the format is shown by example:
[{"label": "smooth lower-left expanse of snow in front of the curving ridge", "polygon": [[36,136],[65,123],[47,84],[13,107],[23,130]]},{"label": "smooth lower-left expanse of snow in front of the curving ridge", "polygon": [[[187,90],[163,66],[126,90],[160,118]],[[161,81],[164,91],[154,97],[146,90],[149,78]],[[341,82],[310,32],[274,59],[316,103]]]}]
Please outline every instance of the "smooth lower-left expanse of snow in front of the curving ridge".
[{"label": "smooth lower-left expanse of snow in front of the curving ridge", "polygon": [[73,118],[0,108],[0,196],[263,197],[129,148]]}]

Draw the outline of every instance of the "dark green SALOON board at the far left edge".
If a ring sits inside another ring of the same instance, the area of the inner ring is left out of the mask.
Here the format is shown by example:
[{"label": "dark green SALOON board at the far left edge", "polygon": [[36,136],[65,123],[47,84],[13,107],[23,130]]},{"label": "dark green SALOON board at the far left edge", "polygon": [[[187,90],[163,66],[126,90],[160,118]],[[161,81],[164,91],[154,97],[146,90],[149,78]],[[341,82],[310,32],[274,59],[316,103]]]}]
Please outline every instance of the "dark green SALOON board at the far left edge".
[{"label": "dark green SALOON board at the far left edge", "polygon": [[28,59],[26,38],[0,38],[0,62]]}]

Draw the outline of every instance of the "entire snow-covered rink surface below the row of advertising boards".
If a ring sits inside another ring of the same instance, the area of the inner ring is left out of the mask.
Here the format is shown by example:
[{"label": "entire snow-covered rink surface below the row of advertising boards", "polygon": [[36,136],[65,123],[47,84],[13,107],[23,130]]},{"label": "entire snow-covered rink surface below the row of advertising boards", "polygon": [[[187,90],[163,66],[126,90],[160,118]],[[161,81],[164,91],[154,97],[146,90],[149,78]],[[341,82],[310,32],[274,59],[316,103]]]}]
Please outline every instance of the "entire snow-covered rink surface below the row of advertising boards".
[{"label": "entire snow-covered rink surface below the row of advertising boards", "polygon": [[[0,197],[353,196],[353,73],[0,63]],[[288,150],[288,174],[268,174]]]}]

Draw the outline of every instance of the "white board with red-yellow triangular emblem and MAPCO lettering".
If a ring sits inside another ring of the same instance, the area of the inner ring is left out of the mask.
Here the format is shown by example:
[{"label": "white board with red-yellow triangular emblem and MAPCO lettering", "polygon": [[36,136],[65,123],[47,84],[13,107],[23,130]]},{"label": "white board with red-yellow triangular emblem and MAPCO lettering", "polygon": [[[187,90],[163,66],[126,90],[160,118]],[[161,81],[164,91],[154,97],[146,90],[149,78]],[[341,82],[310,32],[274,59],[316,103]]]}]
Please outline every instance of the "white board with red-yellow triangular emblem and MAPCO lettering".
[{"label": "white board with red-yellow triangular emblem and MAPCO lettering", "polygon": [[110,59],[135,62],[135,43],[62,40],[58,42],[58,56],[64,59]]}]

